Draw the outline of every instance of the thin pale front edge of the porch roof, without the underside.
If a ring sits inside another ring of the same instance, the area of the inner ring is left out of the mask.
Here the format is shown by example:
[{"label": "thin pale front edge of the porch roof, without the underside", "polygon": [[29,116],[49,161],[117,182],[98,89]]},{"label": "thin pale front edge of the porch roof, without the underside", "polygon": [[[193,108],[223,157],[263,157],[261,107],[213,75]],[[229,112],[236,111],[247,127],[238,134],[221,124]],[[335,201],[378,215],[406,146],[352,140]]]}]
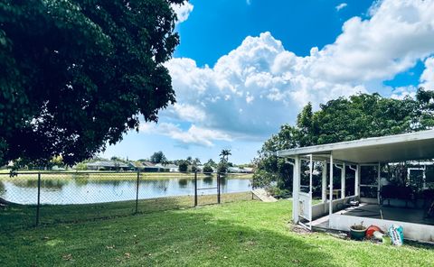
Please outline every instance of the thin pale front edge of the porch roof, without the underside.
[{"label": "thin pale front edge of the porch roof, without the underside", "polygon": [[426,139],[434,139],[434,130],[426,130],[406,134],[386,135],[380,137],[370,137],[340,143],[325,143],[314,146],[306,146],[288,150],[281,150],[277,152],[277,155],[278,157],[289,157],[295,155],[311,154],[318,152],[324,153],[332,152],[334,150],[360,148],[391,143],[411,142]]}]

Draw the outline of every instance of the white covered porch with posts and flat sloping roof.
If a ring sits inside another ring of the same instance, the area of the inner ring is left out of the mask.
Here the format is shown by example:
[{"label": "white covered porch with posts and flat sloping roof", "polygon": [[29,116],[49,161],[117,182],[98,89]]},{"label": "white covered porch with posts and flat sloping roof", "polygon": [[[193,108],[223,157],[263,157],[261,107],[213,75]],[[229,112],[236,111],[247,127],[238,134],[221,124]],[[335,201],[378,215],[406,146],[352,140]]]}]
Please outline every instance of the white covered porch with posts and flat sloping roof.
[{"label": "white covered porch with posts and flat sloping roof", "polygon": [[[294,223],[311,230],[340,231],[362,223],[386,231],[399,225],[406,239],[434,241],[434,190],[420,187],[420,192],[414,192],[405,184],[392,185],[396,180],[388,185],[382,182],[388,180],[382,177],[383,167],[391,162],[433,159],[434,130],[295,148],[277,155],[293,166]],[[315,167],[322,170],[321,202],[314,205]],[[352,184],[349,177],[354,178]]]}]

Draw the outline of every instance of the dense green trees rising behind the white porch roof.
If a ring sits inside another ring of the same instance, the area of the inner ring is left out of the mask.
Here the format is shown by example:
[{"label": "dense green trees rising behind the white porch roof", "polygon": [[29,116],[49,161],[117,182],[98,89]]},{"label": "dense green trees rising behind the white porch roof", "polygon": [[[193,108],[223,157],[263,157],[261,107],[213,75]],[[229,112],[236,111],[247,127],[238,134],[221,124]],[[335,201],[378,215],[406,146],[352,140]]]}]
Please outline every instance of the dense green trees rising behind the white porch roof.
[{"label": "dense green trees rising behind the white porch roof", "polygon": [[254,177],[256,186],[278,181],[292,188],[292,167],[278,158],[278,150],[336,143],[361,138],[402,134],[434,127],[434,91],[420,88],[416,97],[392,99],[378,94],[339,97],[313,112],[309,103],[297,115],[295,125],[284,124],[259,150]]}]

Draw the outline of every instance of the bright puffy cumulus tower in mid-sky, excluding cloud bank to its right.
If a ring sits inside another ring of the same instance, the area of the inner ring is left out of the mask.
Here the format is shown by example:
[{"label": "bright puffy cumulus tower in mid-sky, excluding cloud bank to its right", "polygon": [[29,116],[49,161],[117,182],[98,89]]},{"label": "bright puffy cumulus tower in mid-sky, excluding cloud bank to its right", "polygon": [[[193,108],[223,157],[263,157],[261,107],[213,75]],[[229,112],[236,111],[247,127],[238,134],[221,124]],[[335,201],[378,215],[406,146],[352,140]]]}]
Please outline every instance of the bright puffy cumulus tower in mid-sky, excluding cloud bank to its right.
[{"label": "bright puffy cumulus tower in mid-sky, excluding cloud bank to its right", "polygon": [[[314,51],[315,53],[315,51]],[[351,83],[334,83],[309,76],[312,56],[297,57],[264,32],[247,37],[240,47],[217,61],[213,68],[196,66],[191,59],[170,60],[177,101],[204,114],[193,123],[234,137],[263,138],[280,124],[294,120],[308,101],[318,104],[335,96],[365,89]],[[176,107],[164,114],[183,118]],[[189,117],[186,117],[189,120]]]}]

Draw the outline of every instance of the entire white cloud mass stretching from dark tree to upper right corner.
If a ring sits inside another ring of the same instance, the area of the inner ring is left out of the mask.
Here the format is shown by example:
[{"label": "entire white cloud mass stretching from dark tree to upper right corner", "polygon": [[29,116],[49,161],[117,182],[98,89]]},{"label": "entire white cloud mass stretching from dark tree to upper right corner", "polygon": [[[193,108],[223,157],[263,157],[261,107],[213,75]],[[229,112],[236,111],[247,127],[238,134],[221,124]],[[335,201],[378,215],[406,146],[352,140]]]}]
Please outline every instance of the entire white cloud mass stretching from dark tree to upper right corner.
[{"label": "entire white cloud mass stretching from dark tree to upper right corner", "polygon": [[[420,83],[434,88],[432,36],[434,1],[422,0],[376,2],[369,18],[351,18],[334,43],[314,47],[304,57],[285,50],[270,32],[248,36],[212,67],[198,67],[186,58],[167,62],[178,104],[161,115],[188,121],[203,133],[209,130],[204,139],[211,143],[222,136],[263,140],[281,124],[293,123],[307,102],[318,106],[366,92],[418,60],[426,65]],[[415,90],[384,88],[392,97],[411,96]],[[214,132],[219,134],[212,136]],[[183,137],[209,145],[197,136]]]}]

